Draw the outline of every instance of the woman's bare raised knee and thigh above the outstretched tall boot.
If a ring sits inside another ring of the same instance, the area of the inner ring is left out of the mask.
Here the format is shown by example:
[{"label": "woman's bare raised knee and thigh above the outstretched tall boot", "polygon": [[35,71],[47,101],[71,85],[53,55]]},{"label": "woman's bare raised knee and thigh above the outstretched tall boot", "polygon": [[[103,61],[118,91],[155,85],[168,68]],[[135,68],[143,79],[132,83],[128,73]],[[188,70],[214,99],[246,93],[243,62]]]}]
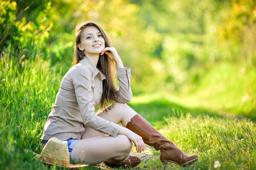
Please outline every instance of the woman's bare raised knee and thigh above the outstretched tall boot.
[{"label": "woman's bare raised knee and thigh above the outstretched tall boot", "polygon": [[[127,123],[131,120],[131,118],[137,114],[137,112],[134,111],[126,103],[115,102],[113,103],[113,105],[114,106],[113,108],[111,108],[111,110],[104,110],[102,113],[98,112],[97,115],[102,117],[103,119],[106,119],[110,122],[114,122],[116,124],[119,124],[121,122],[122,126],[125,127]],[[105,135],[107,134],[100,133],[90,127],[84,126],[84,133],[81,136],[81,139],[88,139],[96,136]]]}]

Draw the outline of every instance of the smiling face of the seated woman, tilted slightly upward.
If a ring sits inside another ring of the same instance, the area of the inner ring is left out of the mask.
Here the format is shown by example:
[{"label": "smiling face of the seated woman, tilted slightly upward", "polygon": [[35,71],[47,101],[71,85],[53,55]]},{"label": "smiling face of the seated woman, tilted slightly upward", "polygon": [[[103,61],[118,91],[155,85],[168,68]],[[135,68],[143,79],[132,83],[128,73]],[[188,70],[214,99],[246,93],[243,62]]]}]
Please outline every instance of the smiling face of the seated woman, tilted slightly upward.
[{"label": "smiling face of the seated woman, tilted slightly upward", "polygon": [[100,54],[105,48],[105,40],[98,28],[89,26],[84,28],[79,49],[84,51],[85,56]]}]

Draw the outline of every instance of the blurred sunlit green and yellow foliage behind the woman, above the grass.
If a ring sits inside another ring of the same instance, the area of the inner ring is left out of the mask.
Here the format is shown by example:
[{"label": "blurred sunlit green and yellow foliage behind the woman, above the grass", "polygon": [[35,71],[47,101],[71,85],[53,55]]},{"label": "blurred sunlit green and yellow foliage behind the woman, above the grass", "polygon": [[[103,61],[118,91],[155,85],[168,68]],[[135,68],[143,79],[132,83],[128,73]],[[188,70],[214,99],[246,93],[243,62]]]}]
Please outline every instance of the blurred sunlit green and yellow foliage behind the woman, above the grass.
[{"label": "blurred sunlit green and yellow foliage behind the woman, above the grass", "polygon": [[134,96],[163,92],[190,107],[255,118],[255,0],[1,1],[1,57],[18,65],[41,58],[64,76],[75,26],[87,20],[107,31],[131,67]]}]

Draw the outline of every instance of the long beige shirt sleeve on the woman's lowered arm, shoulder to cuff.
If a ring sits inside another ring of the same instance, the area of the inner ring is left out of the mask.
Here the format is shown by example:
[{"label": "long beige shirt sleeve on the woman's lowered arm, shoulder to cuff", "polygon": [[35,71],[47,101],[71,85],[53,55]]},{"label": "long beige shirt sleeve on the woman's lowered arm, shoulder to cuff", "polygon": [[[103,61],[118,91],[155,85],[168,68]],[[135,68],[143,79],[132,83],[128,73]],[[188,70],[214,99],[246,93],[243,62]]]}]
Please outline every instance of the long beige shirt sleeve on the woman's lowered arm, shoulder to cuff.
[{"label": "long beige shirt sleeve on the woman's lowered arm, shoulder to cuff", "polygon": [[93,81],[92,71],[84,66],[79,66],[73,71],[71,77],[84,125],[116,137],[121,126],[109,122],[95,114],[93,92],[91,88]]}]

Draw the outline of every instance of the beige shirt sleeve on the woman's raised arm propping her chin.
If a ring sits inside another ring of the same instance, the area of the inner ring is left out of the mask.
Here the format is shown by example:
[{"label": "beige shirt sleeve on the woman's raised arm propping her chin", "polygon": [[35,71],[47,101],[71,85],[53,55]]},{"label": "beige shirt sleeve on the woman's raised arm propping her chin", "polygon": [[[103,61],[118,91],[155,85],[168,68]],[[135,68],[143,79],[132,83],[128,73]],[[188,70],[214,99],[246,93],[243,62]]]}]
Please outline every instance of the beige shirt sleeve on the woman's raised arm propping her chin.
[{"label": "beige shirt sleeve on the woman's raised arm propping her chin", "polygon": [[117,79],[119,88],[117,101],[120,103],[128,103],[131,101],[132,92],[131,92],[131,68],[117,68]]}]

